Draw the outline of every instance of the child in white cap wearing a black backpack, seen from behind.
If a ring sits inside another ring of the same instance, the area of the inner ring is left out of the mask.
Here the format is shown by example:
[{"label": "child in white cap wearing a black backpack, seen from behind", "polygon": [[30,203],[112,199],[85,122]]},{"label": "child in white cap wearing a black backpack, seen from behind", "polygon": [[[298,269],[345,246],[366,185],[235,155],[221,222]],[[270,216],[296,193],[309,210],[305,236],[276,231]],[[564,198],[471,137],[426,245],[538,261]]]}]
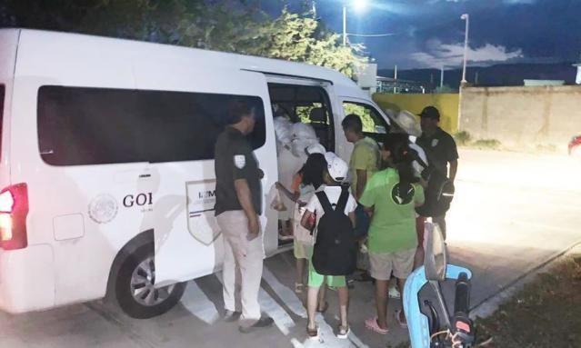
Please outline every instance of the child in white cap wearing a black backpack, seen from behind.
[{"label": "child in white cap wearing a black backpack, seen from behind", "polygon": [[349,333],[347,305],[349,292],[346,275],[356,269],[356,200],[349,194],[348,186],[342,186],[348,166],[336,154],[326,153],[326,171],[323,191],[317,192],[306,204],[301,224],[308,230],[316,226],[315,246],[308,267],[308,292],[306,309],[309,338],[318,337],[315,322],[317,297],[323,283],[336,288],[339,294],[340,321],[337,337],[345,339]]}]

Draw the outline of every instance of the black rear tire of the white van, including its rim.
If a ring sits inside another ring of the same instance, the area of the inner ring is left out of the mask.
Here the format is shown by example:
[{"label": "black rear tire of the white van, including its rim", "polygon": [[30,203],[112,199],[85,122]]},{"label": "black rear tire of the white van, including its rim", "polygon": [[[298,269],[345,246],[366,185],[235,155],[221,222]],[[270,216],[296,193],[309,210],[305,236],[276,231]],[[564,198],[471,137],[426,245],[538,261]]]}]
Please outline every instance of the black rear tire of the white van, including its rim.
[{"label": "black rear tire of the white van, including its rim", "polygon": [[[153,248],[144,245],[129,254],[121,263],[115,282],[115,297],[121,309],[135,319],[161,315],[177,304],[186,283],[175,283],[154,289],[155,263]],[[134,296],[134,290],[140,291]]]}]

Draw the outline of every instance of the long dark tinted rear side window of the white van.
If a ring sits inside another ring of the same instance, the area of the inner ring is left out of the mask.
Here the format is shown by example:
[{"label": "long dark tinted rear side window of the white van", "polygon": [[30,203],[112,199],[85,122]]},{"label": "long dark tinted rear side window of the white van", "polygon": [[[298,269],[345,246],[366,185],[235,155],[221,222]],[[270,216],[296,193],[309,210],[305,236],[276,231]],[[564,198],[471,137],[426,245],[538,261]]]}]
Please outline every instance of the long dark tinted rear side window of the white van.
[{"label": "long dark tinted rear side window of the white van", "polygon": [[227,105],[255,109],[250,141],[265,144],[265,112],[257,96],[64,87],[38,90],[38,141],[47,164],[119,164],[214,158]]}]

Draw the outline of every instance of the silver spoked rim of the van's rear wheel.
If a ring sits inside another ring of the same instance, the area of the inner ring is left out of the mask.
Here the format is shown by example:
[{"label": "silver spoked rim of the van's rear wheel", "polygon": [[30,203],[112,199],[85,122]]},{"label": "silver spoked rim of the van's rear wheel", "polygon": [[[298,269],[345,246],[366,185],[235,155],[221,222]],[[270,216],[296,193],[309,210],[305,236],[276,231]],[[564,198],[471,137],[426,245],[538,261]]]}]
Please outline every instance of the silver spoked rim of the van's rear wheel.
[{"label": "silver spoked rim of the van's rear wheel", "polygon": [[131,294],[137,303],[153,306],[163,303],[174,291],[175,284],[155,288],[155,263],[147,257],[131,274]]}]

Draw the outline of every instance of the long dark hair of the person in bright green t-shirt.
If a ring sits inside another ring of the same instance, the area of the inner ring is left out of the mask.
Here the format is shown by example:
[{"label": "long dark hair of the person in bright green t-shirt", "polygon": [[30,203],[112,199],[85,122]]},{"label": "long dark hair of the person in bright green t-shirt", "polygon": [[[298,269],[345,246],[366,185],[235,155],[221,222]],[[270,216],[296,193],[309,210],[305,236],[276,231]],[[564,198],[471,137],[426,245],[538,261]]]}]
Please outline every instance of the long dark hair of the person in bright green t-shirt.
[{"label": "long dark hair of the person in bright green t-shirt", "polygon": [[384,149],[391,154],[392,164],[397,174],[399,174],[399,182],[402,186],[405,187],[408,184],[414,184],[419,181],[412,165],[416,152],[410,149],[407,134],[387,134],[384,141]]}]

